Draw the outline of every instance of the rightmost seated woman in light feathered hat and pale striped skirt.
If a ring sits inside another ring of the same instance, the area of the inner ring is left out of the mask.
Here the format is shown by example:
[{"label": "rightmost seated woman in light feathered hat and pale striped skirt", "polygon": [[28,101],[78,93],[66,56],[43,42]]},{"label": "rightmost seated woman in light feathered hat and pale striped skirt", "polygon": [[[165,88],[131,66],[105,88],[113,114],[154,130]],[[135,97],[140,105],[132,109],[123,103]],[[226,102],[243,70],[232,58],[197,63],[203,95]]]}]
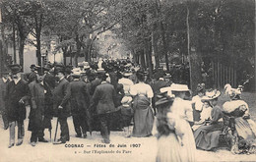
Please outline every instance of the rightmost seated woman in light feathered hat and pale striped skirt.
[{"label": "rightmost seated woman in light feathered hat and pale striped skirt", "polygon": [[224,114],[234,119],[233,135],[239,138],[243,147],[239,147],[238,143],[233,143],[231,147],[232,153],[256,153],[256,124],[250,119],[249,106],[241,99],[241,89],[232,88],[230,84],[224,86],[225,94],[229,96],[229,101],[223,105]]}]

